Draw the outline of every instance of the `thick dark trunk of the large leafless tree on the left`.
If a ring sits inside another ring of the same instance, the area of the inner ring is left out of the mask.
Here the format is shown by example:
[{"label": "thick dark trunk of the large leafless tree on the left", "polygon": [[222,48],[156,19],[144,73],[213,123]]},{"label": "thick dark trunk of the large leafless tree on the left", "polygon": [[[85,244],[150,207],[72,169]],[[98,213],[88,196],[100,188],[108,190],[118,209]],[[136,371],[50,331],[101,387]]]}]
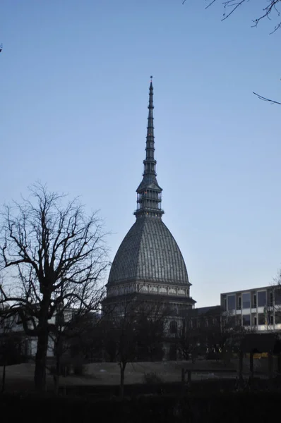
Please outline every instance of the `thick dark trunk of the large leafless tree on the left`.
[{"label": "thick dark trunk of the large leafless tree on the left", "polygon": [[37,338],[34,382],[36,391],[40,392],[44,391],[46,388],[48,338],[47,329],[42,330]]}]

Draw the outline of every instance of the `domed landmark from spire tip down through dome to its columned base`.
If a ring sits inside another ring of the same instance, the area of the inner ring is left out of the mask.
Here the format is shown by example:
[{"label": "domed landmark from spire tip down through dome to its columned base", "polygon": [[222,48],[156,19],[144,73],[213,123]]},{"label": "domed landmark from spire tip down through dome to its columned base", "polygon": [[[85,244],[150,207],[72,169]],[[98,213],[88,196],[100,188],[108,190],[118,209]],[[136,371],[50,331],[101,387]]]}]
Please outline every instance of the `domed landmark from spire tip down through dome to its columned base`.
[{"label": "domed landmark from spire tip down through dome to its columned base", "polygon": [[143,180],[136,190],[136,221],[122,241],[109,273],[103,307],[118,305],[130,295],[145,302],[168,302],[177,314],[193,307],[184,257],[162,221],[162,188],[156,178],[153,125],[153,82],[150,81],[148,128]]}]

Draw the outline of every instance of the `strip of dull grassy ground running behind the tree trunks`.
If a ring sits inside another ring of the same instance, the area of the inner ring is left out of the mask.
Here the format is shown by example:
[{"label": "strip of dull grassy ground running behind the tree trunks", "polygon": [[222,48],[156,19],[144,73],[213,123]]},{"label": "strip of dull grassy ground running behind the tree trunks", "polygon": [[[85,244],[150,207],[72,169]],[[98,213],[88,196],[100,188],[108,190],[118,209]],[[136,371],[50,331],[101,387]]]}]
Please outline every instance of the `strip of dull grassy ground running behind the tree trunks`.
[{"label": "strip of dull grassy ground running behind the tree trunks", "polygon": [[[200,379],[222,379],[235,377],[236,374],[225,374],[214,372],[215,369],[236,369],[237,360],[232,360],[228,364],[215,360],[197,360],[192,362],[138,362],[128,363],[125,372],[125,384],[141,384],[143,377],[148,373],[155,373],[163,382],[176,382],[181,380],[181,368],[186,369],[210,369],[210,372],[194,373],[193,380]],[[266,375],[268,369],[268,360],[254,360],[254,369],[256,374]],[[18,391],[30,389],[33,386],[33,375],[35,364],[16,364],[6,367],[6,388],[7,390],[16,389]],[[244,360],[244,372],[249,372],[249,360]],[[0,367],[0,378],[2,367]],[[0,379],[1,380],[1,379]],[[71,374],[67,377],[61,377],[60,384],[66,385],[119,385],[120,369],[117,363],[92,363],[85,366],[83,376]],[[53,376],[47,375],[47,386],[53,386]]]}]

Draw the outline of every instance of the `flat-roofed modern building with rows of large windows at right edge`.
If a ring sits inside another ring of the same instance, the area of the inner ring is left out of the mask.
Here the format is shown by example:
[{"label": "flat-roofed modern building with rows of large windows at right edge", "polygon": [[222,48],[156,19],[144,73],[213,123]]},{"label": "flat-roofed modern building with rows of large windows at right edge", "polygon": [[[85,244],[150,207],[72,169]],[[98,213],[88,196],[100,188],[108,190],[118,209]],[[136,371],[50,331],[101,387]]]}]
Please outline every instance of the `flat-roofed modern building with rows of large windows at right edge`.
[{"label": "flat-roofed modern building with rows of large windows at right edge", "polygon": [[237,326],[256,331],[281,331],[281,288],[265,286],[220,295],[225,314],[235,317]]}]

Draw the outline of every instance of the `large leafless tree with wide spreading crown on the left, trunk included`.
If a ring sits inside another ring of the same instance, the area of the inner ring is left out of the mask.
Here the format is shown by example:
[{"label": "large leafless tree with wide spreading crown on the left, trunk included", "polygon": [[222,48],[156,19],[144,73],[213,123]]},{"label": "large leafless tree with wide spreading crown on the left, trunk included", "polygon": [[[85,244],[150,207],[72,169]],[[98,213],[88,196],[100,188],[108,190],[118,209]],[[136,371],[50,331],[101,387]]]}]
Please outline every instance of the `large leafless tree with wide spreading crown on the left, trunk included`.
[{"label": "large leafless tree with wide spreading crown on the left, trunk included", "polygon": [[41,184],[30,193],[1,213],[1,268],[11,271],[0,290],[25,333],[37,337],[35,387],[42,391],[56,312],[65,304],[88,308],[108,263],[96,212],[85,216],[77,199],[67,202]]}]

